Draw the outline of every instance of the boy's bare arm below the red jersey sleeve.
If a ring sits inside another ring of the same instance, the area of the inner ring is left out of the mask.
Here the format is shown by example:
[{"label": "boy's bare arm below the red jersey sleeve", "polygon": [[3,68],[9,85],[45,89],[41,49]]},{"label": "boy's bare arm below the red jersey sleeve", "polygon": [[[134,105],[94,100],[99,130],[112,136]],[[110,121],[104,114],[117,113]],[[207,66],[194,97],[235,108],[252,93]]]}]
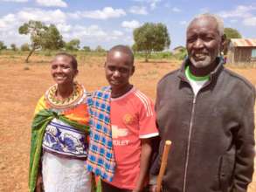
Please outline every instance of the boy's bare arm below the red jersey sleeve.
[{"label": "boy's bare arm below the red jersey sleeve", "polygon": [[142,154],[141,154],[141,162],[140,162],[140,175],[133,192],[142,191],[144,187],[146,175],[148,175],[149,173],[149,161],[150,161],[150,155],[152,152],[151,138],[142,139],[141,141],[142,141]]}]

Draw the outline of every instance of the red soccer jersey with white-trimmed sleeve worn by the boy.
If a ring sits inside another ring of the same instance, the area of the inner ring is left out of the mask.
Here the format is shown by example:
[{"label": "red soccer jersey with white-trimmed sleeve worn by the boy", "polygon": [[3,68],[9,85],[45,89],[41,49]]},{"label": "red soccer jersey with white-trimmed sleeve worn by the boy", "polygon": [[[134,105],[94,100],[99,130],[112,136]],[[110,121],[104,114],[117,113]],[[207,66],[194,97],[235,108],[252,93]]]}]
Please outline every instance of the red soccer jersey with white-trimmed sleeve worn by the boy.
[{"label": "red soccer jersey with white-trimmed sleeve worn by the boy", "polygon": [[158,135],[156,113],[151,99],[135,87],[120,98],[111,99],[110,117],[117,188],[135,189],[140,173],[141,139]]}]

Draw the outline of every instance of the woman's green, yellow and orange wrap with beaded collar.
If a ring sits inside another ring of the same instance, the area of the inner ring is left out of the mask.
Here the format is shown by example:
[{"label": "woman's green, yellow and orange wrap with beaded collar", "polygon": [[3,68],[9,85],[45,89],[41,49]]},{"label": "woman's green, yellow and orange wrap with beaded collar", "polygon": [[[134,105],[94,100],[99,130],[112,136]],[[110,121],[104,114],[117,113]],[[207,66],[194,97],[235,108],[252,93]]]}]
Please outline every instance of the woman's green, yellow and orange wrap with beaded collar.
[{"label": "woman's green, yellow and orange wrap with beaded collar", "polygon": [[89,107],[91,99],[83,86],[74,83],[73,94],[64,100],[55,98],[57,85],[39,99],[35,116],[31,125],[31,154],[29,171],[29,189],[33,192],[36,188],[39,161],[42,153],[42,141],[45,127],[54,118],[59,119],[75,129],[89,134]]}]

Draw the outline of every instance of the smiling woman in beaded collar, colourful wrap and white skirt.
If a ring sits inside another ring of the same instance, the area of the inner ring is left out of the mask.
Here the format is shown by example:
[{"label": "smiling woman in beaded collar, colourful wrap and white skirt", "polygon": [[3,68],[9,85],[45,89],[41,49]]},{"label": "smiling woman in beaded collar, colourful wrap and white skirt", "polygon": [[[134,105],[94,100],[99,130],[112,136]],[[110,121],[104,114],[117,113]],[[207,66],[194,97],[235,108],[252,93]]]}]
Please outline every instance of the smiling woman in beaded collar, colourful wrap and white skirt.
[{"label": "smiling woman in beaded collar, colourful wrap and white skirt", "polygon": [[[30,191],[90,191],[85,168],[89,134],[89,97],[79,83],[76,59],[59,53],[52,60],[56,82],[39,99],[32,122]],[[43,181],[43,182],[42,182]]]}]

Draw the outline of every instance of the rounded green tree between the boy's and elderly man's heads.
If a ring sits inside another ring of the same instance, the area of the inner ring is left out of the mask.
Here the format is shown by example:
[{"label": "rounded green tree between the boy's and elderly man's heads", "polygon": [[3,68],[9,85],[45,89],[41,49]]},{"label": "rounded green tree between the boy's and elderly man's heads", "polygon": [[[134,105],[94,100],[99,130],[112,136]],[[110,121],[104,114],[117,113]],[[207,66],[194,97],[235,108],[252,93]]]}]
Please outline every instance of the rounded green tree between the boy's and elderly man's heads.
[{"label": "rounded green tree between the boy's and elderly man's heads", "polygon": [[134,51],[143,51],[148,62],[152,51],[163,51],[170,46],[170,37],[164,24],[146,23],[134,31]]}]

